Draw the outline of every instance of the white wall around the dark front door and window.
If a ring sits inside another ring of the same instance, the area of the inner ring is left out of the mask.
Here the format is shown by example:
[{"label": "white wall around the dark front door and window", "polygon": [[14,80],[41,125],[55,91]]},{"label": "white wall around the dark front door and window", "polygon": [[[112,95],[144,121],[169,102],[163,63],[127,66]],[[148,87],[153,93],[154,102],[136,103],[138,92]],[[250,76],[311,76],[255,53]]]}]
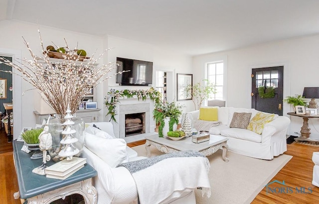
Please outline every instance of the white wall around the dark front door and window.
[{"label": "white wall around the dark front door and window", "polygon": [[[207,61],[227,56],[227,106],[251,107],[251,69],[284,65],[284,98],[303,94],[304,87],[319,87],[319,35],[288,39],[251,46],[238,50],[193,57],[193,67],[199,73],[196,81],[204,77]],[[195,72],[195,70],[194,70]],[[319,100],[317,100],[319,102]],[[284,115],[291,107],[284,103]],[[300,132],[303,120],[291,116],[290,133]],[[319,135],[319,119],[311,119],[310,127]],[[315,124],[315,126],[313,125]],[[316,126],[318,124],[318,126]]]}]

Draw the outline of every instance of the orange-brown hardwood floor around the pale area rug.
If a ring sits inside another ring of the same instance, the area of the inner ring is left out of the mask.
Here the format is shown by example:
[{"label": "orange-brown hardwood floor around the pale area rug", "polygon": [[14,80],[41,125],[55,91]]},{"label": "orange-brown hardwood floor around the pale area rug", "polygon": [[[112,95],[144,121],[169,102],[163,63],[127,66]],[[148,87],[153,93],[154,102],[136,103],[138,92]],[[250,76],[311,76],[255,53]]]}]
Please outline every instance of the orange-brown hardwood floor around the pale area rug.
[{"label": "orange-brown hardwood floor around the pale area rug", "polygon": [[[145,144],[145,140],[129,143],[134,147]],[[285,154],[293,158],[287,165],[271,180],[285,181],[286,186],[274,183],[272,188],[284,190],[290,193],[268,193],[264,188],[252,204],[317,204],[319,203],[319,188],[312,185],[314,163],[312,162],[313,152],[319,151],[319,147],[304,144],[289,144]],[[11,147],[11,149],[10,149]],[[5,152],[9,150],[9,152]],[[12,159],[12,144],[6,142],[6,136],[0,130],[0,198],[1,204],[19,204],[19,200],[13,199],[13,193],[18,191],[17,180]],[[4,153],[3,153],[4,152]],[[235,170],[234,170],[235,171]],[[296,187],[305,187],[304,193],[296,193]],[[244,189],[245,187],[243,187]],[[310,193],[309,189],[312,191]],[[240,191],[240,189],[239,189]],[[308,193],[308,194],[306,194]]]}]

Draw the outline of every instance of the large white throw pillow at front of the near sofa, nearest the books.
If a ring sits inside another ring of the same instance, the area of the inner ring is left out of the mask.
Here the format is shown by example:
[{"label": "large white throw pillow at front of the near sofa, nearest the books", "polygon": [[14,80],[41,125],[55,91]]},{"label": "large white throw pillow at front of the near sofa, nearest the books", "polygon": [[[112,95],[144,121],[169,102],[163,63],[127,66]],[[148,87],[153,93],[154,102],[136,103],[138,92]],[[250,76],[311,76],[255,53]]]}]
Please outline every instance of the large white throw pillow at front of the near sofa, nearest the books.
[{"label": "large white throw pillow at front of the near sofa, nearest the books", "polygon": [[126,142],[124,139],[106,139],[85,132],[84,144],[91,152],[112,168],[115,168],[127,159]]}]

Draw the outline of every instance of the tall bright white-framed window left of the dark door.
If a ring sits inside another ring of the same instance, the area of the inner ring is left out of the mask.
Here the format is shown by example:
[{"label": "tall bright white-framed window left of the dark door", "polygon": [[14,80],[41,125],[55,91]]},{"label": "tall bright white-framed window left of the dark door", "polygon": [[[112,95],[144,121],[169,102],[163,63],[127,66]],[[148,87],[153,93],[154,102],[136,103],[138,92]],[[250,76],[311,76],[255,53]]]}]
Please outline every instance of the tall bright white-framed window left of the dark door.
[{"label": "tall bright white-framed window left of the dark door", "polygon": [[216,93],[212,94],[208,100],[224,99],[224,62],[213,62],[206,64],[206,79],[213,84]]}]

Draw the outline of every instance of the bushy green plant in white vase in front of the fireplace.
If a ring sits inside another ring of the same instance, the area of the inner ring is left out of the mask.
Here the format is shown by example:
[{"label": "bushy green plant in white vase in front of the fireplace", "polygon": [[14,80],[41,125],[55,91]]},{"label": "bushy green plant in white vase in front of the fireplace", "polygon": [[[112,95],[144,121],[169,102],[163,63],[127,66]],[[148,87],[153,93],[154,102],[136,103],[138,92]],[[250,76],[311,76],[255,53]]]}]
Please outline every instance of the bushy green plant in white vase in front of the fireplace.
[{"label": "bushy green plant in white vase in front of the fireplace", "polygon": [[[181,108],[183,105],[177,104],[175,102],[160,101],[155,103],[155,108],[153,110],[153,117],[155,122],[160,124],[159,126],[159,137],[163,137],[163,128],[167,126],[168,121],[168,131],[173,131],[174,124],[178,124],[178,118],[181,115]],[[164,133],[168,132],[164,130]]]}]

